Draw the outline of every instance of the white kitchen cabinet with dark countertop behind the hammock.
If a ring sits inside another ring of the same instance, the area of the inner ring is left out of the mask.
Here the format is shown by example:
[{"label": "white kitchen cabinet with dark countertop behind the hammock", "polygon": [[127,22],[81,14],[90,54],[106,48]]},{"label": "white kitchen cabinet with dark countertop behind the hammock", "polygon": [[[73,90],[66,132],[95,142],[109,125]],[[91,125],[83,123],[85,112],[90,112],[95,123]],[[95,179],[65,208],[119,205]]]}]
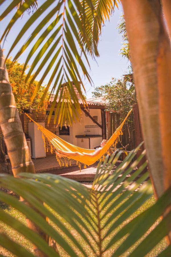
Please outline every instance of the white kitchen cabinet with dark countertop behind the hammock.
[{"label": "white kitchen cabinet with dark countertop behind the hammock", "polygon": [[86,149],[94,149],[94,147],[100,145],[102,141],[102,135],[76,135],[76,138],[76,145]]}]

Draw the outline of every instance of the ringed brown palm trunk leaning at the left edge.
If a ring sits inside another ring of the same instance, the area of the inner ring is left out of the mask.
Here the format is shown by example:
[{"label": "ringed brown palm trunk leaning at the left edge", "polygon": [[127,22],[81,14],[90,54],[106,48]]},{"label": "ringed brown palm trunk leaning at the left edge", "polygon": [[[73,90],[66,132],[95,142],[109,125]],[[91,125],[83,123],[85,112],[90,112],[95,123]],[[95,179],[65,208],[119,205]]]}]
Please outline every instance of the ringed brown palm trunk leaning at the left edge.
[{"label": "ringed brown palm trunk leaning at the left edge", "polygon": [[[18,110],[16,108],[14,95],[8,79],[8,73],[0,48],[0,124],[4,135],[5,144],[12,166],[14,176],[20,172],[35,173],[34,164],[30,157],[25,134],[21,125]],[[22,198],[20,199],[23,200]],[[28,203],[27,203],[28,204]],[[40,234],[46,239],[46,234],[42,233],[30,220],[27,219],[29,228]],[[34,246],[36,256],[44,257],[36,246]]]}]

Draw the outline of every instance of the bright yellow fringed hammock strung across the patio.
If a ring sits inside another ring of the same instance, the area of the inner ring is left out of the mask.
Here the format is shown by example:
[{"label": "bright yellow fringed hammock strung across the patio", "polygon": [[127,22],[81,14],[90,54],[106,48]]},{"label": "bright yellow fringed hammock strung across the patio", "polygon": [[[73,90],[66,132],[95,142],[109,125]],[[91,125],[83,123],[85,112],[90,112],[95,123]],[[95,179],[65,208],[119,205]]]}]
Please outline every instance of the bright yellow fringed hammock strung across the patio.
[{"label": "bright yellow fringed hammock strung across the patio", "polygon": [[[105,156],[108,154],[109,156],[116,150],[117,142],[119,142],[119,136],[122,135],[122,128],[127,120],[128,116],[130,115],[132,109],[129,111],[121,125],[115,130],[113,135],[109,138],[109,140],[106,142],[106,144],[101,148],[99,154],[97,156],[86,156],[86,155],[77,155],[77,156],[65,156],[65,157],[58,157],[56,155],[56,159],[60,166],[68,167],[71,166],[71,162],[76,160],[76,164],[79,166],[81,170],[81,166],[84,165],[84,168],[86,168],[86,165],[91,165],[95,163],[98,160],[105,160]],[[33,121],[37,126],[38,129],[42,132],[42,138],[44,141],[44,148],[46,152],[55,153],[58,149],[65,151],[65,152],[80,152],[81,154],[83,152],[85,153],[93,153],[94,149],[85,149],[78,146],[75,146],[73,144],[70,144],[60,138],[59,136],[55,135],[48,129],[44,128],[40,124],[36,123],[27,113],[25,113],[30,121]]]}]

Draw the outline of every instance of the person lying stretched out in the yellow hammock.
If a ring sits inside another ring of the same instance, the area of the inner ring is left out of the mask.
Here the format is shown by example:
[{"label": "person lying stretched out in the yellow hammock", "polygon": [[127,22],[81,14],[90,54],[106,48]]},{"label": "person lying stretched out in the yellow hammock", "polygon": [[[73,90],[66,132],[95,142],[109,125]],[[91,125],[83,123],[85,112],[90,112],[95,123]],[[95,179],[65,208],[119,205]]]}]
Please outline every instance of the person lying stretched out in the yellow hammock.
[{"label": "person lying stretched out in the yellow hammock", "polygon": [[100,143],[100,147],[96,148],[94,150],[94,152],[92,152],[92,153],[65,152],[65,151],[62,151],[60,149],[57,149],[57,152],[55,152],[55,153],[59,158],[67,157],[67,156],[77,156],[77,155],[86,155],[86,156],[93,156],[94,157],[94,156],[97,156],[99,154],[99,152],[101,151],[101,148],[106,144],[106,142],[107,142],[107,140],[103,139],[102,142]]}]

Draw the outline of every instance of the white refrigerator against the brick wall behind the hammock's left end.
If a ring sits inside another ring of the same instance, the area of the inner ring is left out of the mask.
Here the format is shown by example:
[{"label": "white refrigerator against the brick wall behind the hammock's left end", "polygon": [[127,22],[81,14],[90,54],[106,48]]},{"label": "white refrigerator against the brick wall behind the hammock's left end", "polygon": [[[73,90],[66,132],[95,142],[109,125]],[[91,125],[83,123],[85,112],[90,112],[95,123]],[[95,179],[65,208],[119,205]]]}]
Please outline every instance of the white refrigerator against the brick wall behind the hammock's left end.
[{"label": "white refrigerator against the brick wall behind the hammock's left end", "polygon": [[[44,127],[44,122],[39,122],[38,124]],[[34,159],[46,157],[42,132],[37,128],[34,122],[28,123],[28,136],[31,140],[31,158]]]}]

